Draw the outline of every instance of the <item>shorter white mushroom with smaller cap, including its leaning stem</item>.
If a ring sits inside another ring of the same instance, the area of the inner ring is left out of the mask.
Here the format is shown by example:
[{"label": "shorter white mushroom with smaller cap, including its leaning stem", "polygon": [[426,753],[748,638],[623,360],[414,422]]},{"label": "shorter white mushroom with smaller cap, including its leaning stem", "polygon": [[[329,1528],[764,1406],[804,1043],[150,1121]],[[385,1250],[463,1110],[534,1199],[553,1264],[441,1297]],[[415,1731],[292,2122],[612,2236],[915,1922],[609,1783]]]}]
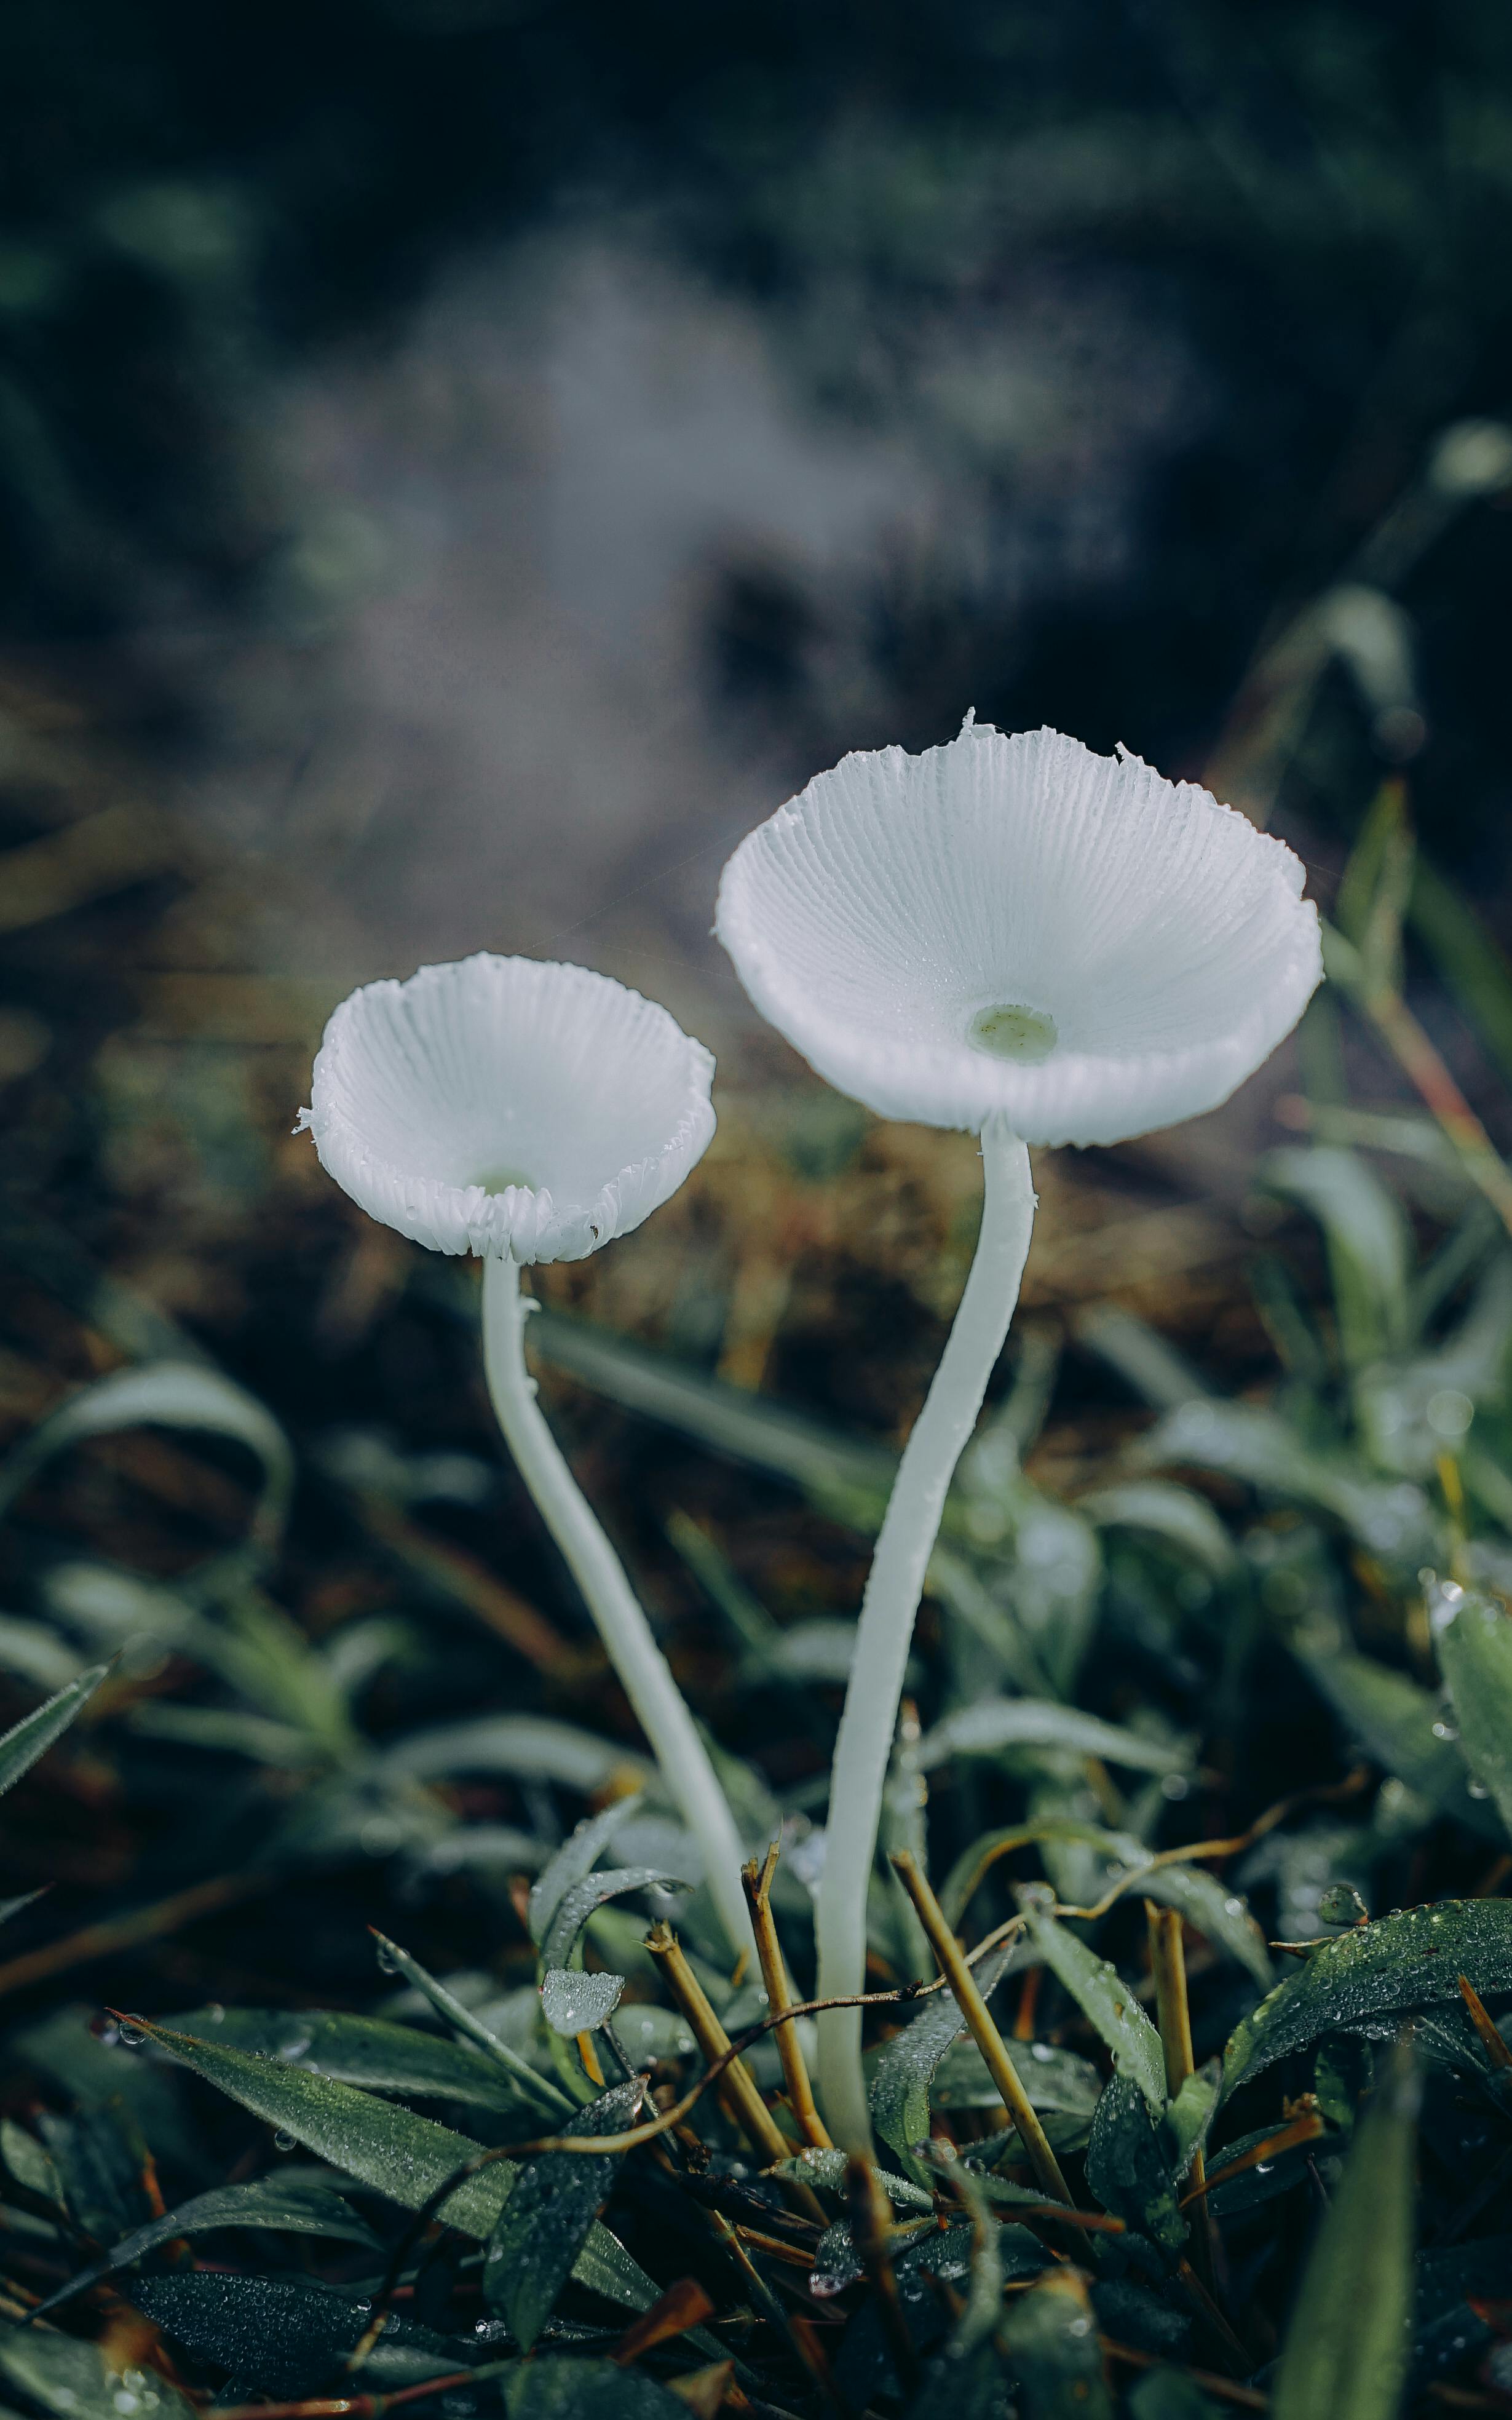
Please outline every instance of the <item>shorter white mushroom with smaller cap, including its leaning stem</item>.
[{"label": "shorter white mushroom with smaller cap, including its leaning stem", "polygon": [[375,1220],[484,1261],[484,1365],[503,1437],[561,1549],[731,1946],[752,1943],[743,1844],[709,1750],[525,1370],[520,1266],[581,1261],[665,1203],[714,1135],[714,1060],[665,1009],[583,966],[479,953],[368,983],[334,1012],[300,1125]]}]

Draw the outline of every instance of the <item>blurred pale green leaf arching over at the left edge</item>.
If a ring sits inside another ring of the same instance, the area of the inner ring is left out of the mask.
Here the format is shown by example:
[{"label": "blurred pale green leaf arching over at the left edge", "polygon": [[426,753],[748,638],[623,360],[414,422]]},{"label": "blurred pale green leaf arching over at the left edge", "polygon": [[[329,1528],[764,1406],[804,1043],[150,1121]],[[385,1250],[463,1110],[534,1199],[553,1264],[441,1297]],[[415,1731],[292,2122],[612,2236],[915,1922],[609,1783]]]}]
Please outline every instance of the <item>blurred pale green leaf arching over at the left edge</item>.
[{"label": "blurred pale green leaf arching over at the left edge", "polygon": [[0,1515],[51,1454],[82,1437],[104,1437],[121,1428],[201,1428],[215,1437],[247,1445],[264,1474],[261,1498],[252,1515],[249,1539],[271,1554],[283,1537],[283,1522],[295,1483],[295,1457],[273,1413],[218,1370],[196,1362],[148,1362],[138,1370],[114,1370],[70,1396],[0,1467]]}]

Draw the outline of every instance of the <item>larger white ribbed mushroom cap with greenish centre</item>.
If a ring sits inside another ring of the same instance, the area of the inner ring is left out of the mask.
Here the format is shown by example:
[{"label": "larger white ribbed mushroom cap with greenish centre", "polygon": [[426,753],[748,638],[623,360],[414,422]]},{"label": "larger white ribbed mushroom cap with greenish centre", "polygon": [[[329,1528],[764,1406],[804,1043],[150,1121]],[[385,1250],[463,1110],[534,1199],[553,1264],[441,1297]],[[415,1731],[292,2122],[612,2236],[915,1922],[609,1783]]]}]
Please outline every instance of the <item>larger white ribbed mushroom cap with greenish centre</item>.
[{"label": "larger white ribbed mushroom cap with greenish centre", "polygon": [[1302,862],[1193,782],[973,726],[818,774],[740,842],[716,934],[883,1118],[1123,1142],[1217,1108],[1321,978]]}]

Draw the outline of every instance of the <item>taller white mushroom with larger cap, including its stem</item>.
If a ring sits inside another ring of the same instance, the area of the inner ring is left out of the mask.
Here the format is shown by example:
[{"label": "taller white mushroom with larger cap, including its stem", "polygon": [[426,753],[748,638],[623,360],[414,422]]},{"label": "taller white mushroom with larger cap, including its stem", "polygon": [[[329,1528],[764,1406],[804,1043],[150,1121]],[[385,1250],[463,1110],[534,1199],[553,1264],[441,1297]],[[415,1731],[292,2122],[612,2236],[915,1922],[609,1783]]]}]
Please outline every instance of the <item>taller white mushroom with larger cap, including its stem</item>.
[{"label": "taller white mushroom with larger cap, including its stem", "polygon": [[[861,1992],[866,1885],[924,1568],[1004,1346],[1028,1142],[1118,1142],[1217,1108],[1321,975],[1302,864],[1190,782],[968,714],[924,755],[849,755],[750,832],[716,932],[779,1033],[883,1118],[982,1135],[977,1256],[876,1544],[818,1892],[823,1999]],[[871,2139],[861,2016],[820,2016],[837,2142]]]}]

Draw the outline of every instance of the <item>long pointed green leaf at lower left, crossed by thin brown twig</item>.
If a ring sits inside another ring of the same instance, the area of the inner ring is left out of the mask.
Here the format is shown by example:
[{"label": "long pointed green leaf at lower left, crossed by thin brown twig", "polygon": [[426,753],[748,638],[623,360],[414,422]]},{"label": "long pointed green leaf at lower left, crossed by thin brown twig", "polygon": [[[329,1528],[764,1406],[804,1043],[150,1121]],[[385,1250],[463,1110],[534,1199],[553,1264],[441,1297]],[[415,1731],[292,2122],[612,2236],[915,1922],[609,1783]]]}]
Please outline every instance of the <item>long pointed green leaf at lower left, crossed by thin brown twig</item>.
[{"label": "long pointed green leaf at lower left, crossed by thin brown twig", "polygon": [[[169,2059],[240,2101],[254,2118],[293,2134],[331,2168],[344,2168],[346,2176],[385,2193],[402,2209],[421,2209],[457,2168],[481,2151],[481,2144],[469,2142],[467,2134],[452,2134],[450,2127],[375,2101],[351,2084],[331,2084],[329,2076],[310,2076],[300,2067],[259,2059],[220,2042],[198,2042],[186,2033],[148,2026],[143,2018],[135,2023]],[[513,2193],[515,2176],[513,2161],[491,2161],[448,2195],[440,2217],[448,2226],[486,2241]],[[646,2311],[656,2301],[656,2287],[607,2229],[593,2231],[576,2275],[595,2294],[605,2294],[629,2311]]]}]

